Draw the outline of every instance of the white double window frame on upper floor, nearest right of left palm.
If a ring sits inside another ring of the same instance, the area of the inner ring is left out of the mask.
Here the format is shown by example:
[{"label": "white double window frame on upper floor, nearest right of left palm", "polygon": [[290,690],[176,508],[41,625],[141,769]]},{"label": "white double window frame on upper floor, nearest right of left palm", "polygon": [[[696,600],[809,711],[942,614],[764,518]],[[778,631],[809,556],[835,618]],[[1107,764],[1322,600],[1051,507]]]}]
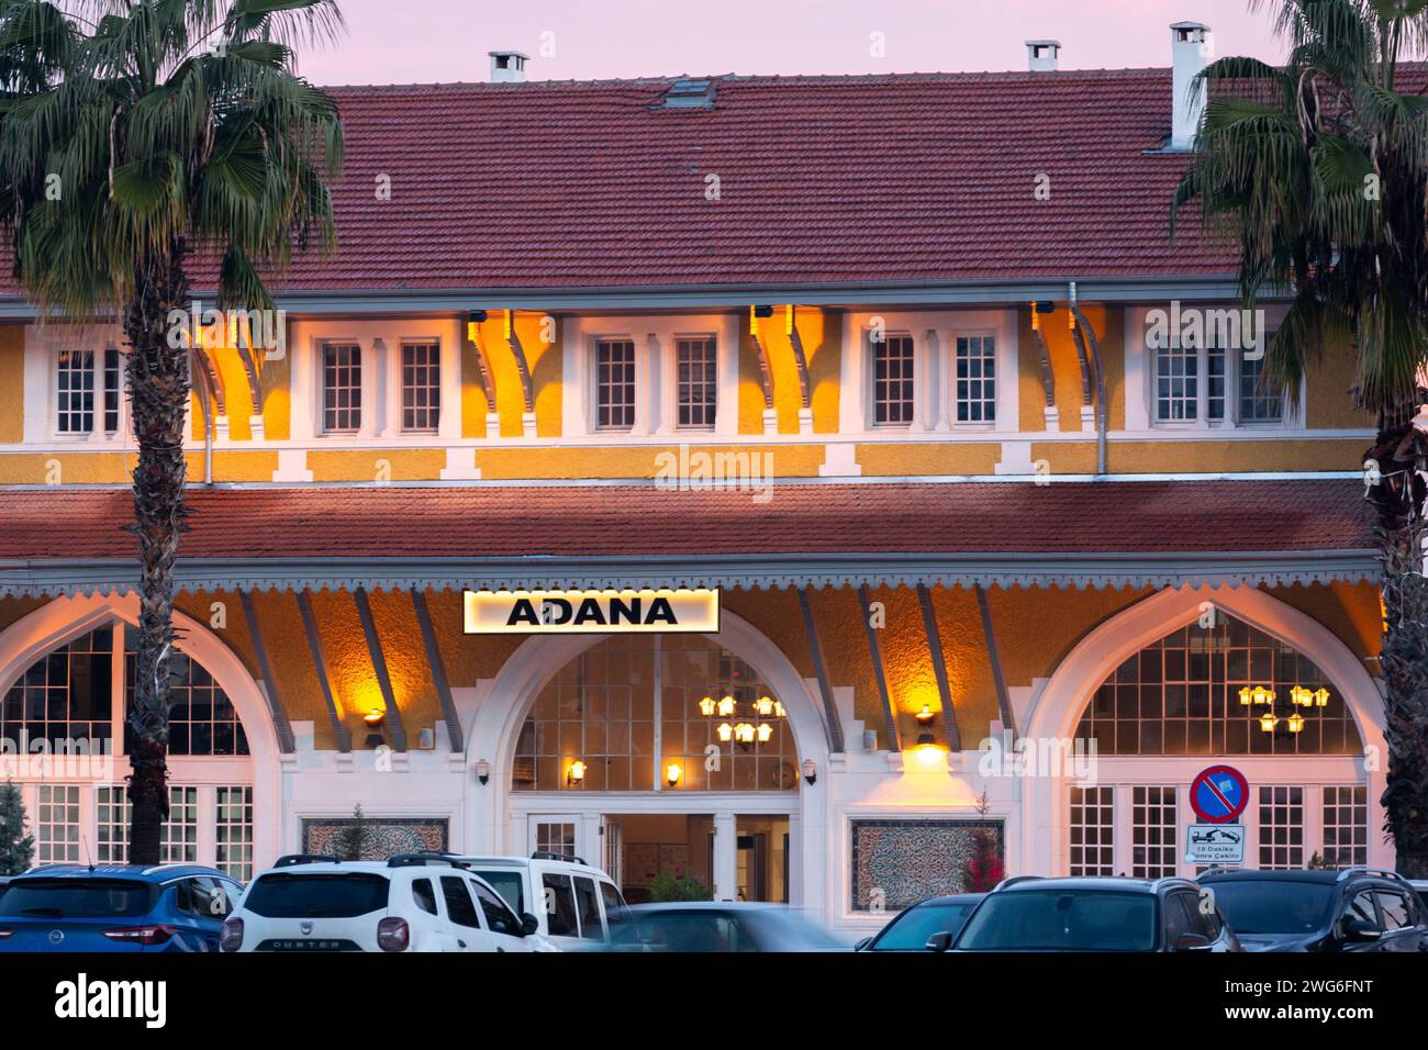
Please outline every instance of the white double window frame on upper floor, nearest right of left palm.
[{"label": "white double window frame on upper floor, nearest right of left palm", "polygon": [[[291,440],[313,446],[348,447],[430,446],[461,440],[461,347],[464,321],[394,317],[374,321],[303,320],[293,323]],[[361,347],[361,424],[357,431],[323,429],[323,350],[330,343]],[[436,343],[440,347],[441,417],[437,430],[404,430],[401,404],[401,347]]]}]

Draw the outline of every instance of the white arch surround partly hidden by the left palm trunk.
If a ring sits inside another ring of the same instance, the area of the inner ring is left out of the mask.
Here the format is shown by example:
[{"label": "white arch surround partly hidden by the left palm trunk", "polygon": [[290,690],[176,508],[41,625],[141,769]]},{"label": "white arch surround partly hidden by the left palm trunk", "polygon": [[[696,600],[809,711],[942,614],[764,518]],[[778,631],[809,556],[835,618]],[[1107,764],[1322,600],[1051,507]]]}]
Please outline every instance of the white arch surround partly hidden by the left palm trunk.
[{"label": "white arch surround partly hidden by the left palm trunk", "polygon": [[[243,723],[253,767],[254,871],[277,856],[283,823],[278,740],[261,690],[237,654],[213,631],[174,610],[174,649],[196,660],[223,689]],[[0,694],[36,660],[114,620],[139,626],[137,594],[87,594],[47,601],[0,631]]]}]

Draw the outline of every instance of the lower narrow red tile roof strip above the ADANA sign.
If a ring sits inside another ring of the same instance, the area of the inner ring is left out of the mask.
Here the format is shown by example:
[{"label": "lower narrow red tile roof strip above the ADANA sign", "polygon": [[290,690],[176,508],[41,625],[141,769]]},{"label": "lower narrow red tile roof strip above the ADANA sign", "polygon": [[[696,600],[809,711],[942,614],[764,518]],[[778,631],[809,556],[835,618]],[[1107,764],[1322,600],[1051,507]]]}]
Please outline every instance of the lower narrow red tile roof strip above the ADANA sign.
[{"label": "lower narrow red tile roof strip above the ADANA sign", "polygon": [[[1352,480],[778,484],[767,503],[648,484],[193,489],[188,504],[180,560],[1372,547]],[[131,557],[131,516],[127,490],[0,490],[0,563]]]}]

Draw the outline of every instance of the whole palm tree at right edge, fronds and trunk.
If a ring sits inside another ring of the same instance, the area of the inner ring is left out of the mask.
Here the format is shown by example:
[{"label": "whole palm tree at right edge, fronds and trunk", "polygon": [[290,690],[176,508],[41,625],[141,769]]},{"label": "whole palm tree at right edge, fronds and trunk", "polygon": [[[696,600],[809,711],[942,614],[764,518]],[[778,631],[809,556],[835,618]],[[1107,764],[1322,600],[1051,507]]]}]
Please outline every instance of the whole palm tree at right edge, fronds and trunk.
[{"label": "whole palm tree at right edge, fronds and trunk", "polygon": [[[1251,0],[1251,9],[1269,0]],[[1265,381],[1299,390],[1308,364],[1352,351],[1352,396],[1377,419],[1365,456],[1382,546],[1387,830],[1399,870],[1428,877],[1428,580],[1422,420],[1428,360],[1428,97],[1408,60],[1428,44],[1428,0],[1272,0],[1282,69],[1221,59],[1191,201],[1240,254],[1245,306],[1287,294]]]}]

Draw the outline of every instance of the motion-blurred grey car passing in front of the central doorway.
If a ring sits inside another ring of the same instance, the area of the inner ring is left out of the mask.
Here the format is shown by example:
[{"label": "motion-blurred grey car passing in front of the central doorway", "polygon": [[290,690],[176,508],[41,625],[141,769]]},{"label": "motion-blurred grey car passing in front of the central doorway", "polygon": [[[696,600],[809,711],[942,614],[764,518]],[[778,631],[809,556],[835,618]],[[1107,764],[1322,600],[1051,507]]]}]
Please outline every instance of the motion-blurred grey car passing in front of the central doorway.
[{"label": "motion-blurred grey car passing in front of the central doorway", "polygon": [[611,951],[847,951],[784,904],[631,904],[610,916]]}]

